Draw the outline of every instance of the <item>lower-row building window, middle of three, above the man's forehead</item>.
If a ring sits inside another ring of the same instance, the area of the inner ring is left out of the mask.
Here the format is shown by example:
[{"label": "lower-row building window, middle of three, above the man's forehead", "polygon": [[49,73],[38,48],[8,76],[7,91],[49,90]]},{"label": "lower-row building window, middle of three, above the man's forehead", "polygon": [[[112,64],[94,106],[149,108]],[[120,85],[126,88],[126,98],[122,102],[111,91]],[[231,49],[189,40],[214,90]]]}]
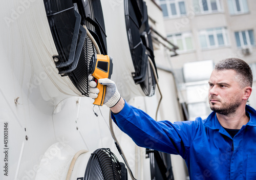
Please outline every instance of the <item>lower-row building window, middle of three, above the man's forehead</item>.
[{"label": "lower-row building window, middle of three, above the man's forehead", "polygon": [[229,44],[226,28],[210,28],[199,31],[202,49],[224,47]]}]

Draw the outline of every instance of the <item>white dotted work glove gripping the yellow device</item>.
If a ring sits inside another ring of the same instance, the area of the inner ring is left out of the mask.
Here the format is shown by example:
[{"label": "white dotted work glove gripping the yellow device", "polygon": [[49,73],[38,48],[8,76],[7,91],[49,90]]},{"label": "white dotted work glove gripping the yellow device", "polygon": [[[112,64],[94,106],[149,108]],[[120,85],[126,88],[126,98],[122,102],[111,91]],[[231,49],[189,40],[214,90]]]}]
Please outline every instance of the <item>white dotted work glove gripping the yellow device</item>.
[{"label": "white dotted work glove gripping the yellow device", "polygon": [[[96,87],[97,83],[94,81],[94,77],[92,75],[89,75],[89,97],[92,99],[95,99],[98,97],[99,89]],[[116,84],[114,81],[103,78],[99,79],[98,83],[106,86],[106,93],[105,98],[103,101],[103,104],[105,104],[108,107],[113,107],[117,104],[117,102],[120,100],[121,95],[119,94]]]}]

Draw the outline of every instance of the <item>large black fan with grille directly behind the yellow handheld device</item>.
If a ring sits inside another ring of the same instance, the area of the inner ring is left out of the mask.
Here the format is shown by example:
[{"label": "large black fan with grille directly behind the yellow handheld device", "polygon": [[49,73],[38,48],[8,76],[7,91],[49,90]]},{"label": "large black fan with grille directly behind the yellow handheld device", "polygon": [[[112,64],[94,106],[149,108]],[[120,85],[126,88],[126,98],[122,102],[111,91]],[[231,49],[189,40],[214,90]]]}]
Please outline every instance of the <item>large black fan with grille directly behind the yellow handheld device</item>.
[{"label": "large black fan with grille directly behind the yellow handheld device", "polygon": [[98,51],[107,53],[100,0],[44,0],[44,5],[58,52],[53,56],[56,68],[61,76],[70,78],[81,95],[88,96],[90,59]]}]

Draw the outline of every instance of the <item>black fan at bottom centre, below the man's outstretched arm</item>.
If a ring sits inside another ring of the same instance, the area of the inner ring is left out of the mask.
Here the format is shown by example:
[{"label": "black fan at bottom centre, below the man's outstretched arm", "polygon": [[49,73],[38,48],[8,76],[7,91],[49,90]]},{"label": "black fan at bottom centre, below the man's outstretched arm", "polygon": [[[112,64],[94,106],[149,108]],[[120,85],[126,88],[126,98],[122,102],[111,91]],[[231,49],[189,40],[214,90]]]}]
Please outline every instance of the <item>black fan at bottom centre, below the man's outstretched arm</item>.
[{"label": "black fan at bottom centre, below the man's outstretched arm", "polygon": [[153,149],[146,149],[150,158],[151,179],[174,180],[170,154]]}]

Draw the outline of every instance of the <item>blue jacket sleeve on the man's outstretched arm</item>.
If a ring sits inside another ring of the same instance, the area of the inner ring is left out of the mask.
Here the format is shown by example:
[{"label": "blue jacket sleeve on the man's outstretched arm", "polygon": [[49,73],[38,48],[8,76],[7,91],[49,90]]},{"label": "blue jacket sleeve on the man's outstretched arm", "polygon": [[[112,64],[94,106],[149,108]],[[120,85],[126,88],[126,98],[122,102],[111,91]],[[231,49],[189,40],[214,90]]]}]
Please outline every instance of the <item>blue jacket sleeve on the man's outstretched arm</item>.
[{"label": "blue jacket sleeve on the man's outstretched arm", "polygon": [[127,102],[118,114],[112,113],[112,119],[138,146],[180,154],[183,159],[200,124],[198,121],[155,121]]}]

